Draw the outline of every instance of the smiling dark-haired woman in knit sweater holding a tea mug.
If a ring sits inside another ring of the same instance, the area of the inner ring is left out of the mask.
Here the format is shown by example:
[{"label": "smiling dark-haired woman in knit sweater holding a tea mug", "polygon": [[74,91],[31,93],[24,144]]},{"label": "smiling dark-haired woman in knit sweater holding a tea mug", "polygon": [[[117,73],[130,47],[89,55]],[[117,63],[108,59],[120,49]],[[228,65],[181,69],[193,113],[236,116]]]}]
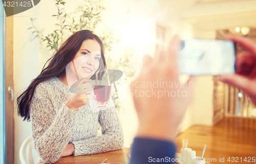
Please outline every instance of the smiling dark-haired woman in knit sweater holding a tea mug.
[{"label": "smiling dark-haired woman in knit sweater holding a tea mug", "polygon": [[[100,55],[91,53],[96,51]],[[17,98],[18,114],[24,120],[31,119],[34,146],[44,162],[122,148],[123,134],[115,109],[92,112],[95,100],[90,99],[90,93],[70,91],[66,66],[82,56],[77,74],[88,77],[86,82],[101,79],[105,70],[103,43],[91,31],[82,30],[61,45],[49,65]],[[96,136],[98,123],[101,136]]]}]

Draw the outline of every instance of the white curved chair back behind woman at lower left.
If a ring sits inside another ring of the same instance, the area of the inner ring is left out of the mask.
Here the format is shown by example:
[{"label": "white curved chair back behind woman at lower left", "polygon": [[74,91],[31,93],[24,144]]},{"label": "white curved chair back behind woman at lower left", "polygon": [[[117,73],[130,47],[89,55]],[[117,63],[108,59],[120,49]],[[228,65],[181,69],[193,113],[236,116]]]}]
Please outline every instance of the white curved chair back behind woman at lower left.
[{"label": "white curved chair back behind woman at lower left", "polygon": [[[27,153],[26,153],[27,148]],[[27,139],[24,140],[22,146],[19,149],[19,159],[22,164],[34,164],[33,154],[32,154],[32,136],[30,135]],[[27,159],[26,159],[27,156]]]}]

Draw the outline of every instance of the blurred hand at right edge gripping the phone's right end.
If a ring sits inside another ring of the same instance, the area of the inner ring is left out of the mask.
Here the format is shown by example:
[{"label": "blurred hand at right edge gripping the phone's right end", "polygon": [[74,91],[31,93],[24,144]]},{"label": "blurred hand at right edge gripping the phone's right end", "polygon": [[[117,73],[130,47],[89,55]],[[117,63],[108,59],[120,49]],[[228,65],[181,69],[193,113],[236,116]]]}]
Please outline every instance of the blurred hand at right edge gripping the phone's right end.
[{"label": "blurred hand at right edge gripping the phone's right end", "polygon": [[238,43],[244,51],[237,55],[236,74],[221,76],[219,80],[242,89],[256,105],[256,43],[235,35],[227,39]]}]

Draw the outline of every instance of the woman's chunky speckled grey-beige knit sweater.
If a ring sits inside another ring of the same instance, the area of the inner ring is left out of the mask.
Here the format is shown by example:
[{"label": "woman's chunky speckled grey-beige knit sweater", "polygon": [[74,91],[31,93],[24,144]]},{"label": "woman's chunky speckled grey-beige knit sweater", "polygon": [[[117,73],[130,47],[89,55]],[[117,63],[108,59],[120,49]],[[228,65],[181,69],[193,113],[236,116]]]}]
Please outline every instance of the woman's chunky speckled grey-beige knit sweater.
[{"label": "woman's chunky speckled grey-beige knit sweater", "polygon": [[[115,109],[93,112],[95,100],[90,99],[73,111],[65,105],[70,95],[69,87],[56,77],[35,88],[30,111],[34,146],[41,160],[56,162],[70,143],[76,156],[121,149],[123,133]],[[96,136],[98,123],[101,136]]]}]

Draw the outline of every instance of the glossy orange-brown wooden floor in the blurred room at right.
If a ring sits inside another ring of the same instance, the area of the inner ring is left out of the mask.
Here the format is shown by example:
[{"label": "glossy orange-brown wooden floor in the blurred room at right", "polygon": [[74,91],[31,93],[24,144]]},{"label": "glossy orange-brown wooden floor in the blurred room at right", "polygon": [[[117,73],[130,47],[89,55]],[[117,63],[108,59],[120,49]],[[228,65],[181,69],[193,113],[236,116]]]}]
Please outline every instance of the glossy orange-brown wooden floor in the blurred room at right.
[{"label": "glossy orange-brown wooden floor in the blurred room at right", "polygon": [[[254,163],[243,160],[255,158],[256,119],[224,118],[212,127],[193,126],[177,136],[177,152],[182,148],[182,139],[189,139],[187,147],[195,150],[197,156],[201,156],[206,144],[204,157],[216,158],[216,161],[211,163]],[[223,157],[224,162],[221,162],[220,158]],[[230,162],[227,161],[229,157]],[[231,157],[235,157],[233,162]],[[236,160],[237,162],[234,162]]]}]

